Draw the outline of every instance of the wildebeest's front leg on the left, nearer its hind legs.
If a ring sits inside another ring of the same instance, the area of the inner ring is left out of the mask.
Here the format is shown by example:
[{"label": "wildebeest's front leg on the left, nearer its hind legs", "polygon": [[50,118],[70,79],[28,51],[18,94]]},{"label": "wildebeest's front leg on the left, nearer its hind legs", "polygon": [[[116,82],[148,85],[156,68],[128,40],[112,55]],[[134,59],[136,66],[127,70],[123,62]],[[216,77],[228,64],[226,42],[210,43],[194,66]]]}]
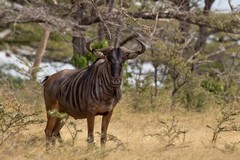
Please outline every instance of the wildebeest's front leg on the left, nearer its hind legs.
[{"label": "wildebeest's front leg on the left, nearer its hind legs", "polygon": [[88,111],[88,114],[87,114],[87,126],[88,126],[87,142],[88,143],[93,143],[94,142],[94,136],[93,136],[94,120],[95,120],[94,112]]}]

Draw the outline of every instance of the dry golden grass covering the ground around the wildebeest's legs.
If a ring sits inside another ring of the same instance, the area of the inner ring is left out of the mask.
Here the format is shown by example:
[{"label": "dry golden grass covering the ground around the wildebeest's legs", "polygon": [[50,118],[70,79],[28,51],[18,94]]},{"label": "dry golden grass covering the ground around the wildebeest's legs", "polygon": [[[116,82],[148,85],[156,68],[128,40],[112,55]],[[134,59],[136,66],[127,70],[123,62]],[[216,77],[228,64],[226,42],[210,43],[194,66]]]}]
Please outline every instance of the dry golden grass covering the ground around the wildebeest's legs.
[{"label": "dry golden grass covering the ground around the wildebeest's legs", "polygon": [[[20,93],[16,91],[15,94]],[[3,90],[0,89],[0,95]],[[32,101],[32,100],[31,100]],[[43,112],[37,118],[45,119],[42,98],[36,100],[38,109]],[[35,103],[34,103],[35,104]],[[240,134],[237,131],[222,133],[213,146],[211,144],[212,131],[206,125],[214,124],[218,110],[205,113],[193,113],[185,111],[161,111],[149,113],[134,113],[124,98],[114,110],[109,126],[109,141],[105,147],[100,146],[101,117],[95,122],[94,146],[88,146],[86,142],[87,128],[86,120],[74,120],[78,133],[73,145],[69,128],[62,129],[63,142],[57,143],[55,147],[46,149],[44,128],[45,123],[33,124],[27,130],[21,131],[0,146],[1,160],[27,160],[27,159],[178,159],[178,160],[237,160],[240,154]],[[27,104],[29,108],[31,104]],[[162,106],[159,106],[162,107]],[[162,107],[163,108],[163,107]],[[164,110],[164,109],[161,109]],[[166,109],[165,109],[166,110]],[[213,113],[214,112],[214,113]],[[178,120],[177,127],[186,130],[185,140],[181,137],[174,139],[173,145],[167,145],[168,141],[162,133],[163,125],[159,122],[169,123],[172,117]],[[158,135],[158,136],[146,136]]]}]

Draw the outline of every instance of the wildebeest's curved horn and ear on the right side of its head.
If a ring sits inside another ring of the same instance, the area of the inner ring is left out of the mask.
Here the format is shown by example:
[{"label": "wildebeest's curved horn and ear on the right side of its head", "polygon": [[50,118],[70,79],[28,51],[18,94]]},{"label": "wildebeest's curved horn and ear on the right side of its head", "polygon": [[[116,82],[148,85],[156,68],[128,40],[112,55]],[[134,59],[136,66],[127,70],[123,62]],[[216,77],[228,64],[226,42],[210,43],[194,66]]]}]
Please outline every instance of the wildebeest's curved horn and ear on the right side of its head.
[{"label": "wildebeest's curved horn and ear on the right side of its head", "polygon": [[130,49],[127,49],[125,47],[120,47],[125,53],[126,53],[126,57],[127,59],[134,59],[136,58],[138,55],[142,54],[143,52],[145,52],[146,50],[146,46],[143,44],[142,41],[140,41],[137,38],[134,38],[142,47],[142,49],[140,51],[132,51]]}]

